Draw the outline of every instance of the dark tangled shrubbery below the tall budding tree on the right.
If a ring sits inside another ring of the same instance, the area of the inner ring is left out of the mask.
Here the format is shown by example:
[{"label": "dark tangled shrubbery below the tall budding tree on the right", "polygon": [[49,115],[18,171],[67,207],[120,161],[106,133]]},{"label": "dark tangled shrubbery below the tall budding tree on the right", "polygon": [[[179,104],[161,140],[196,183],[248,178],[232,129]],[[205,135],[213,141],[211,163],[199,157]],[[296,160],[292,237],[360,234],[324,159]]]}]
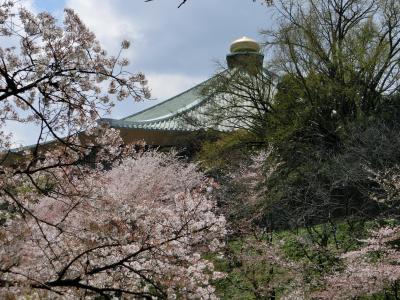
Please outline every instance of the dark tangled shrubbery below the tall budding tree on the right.
[{"label": "dark tangled shrubbery below the tall budding tree on the right", "polygon": [[[394,213],[388,203],[376,201],[385,197],[385,191],[371,179],[370,170],[384,171],[400,162],[400,119],[392,117],[399,112],[395,105],[343,124],[337,149],[296,139],[299,135],[270,141],[277,149],[273,156],[283,163],[265,183],[265,222],[296,227]],[[298,132],[305,135],[304,130]]]}]

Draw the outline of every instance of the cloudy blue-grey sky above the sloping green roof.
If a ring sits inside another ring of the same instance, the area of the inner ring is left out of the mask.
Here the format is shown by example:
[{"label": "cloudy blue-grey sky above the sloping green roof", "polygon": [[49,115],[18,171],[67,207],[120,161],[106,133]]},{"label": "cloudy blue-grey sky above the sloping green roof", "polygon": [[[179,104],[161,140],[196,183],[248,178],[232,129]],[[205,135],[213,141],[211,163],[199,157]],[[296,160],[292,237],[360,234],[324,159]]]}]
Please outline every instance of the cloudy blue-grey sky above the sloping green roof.
[{"label": "cloudy blue-grey sky above the sloping green roof", "polygon": [[[143,72],[153,100],[119,102],[111,118],[122,118],[166,100],[218,71],[232,41],[248,36],[262,41],[260,30],[272,25],[271,8],[253,0],[26,0],[35,12],[62,19],[74,9],[107,52],[117,54],[121,41],[129,70]],[[29,130],[13,128],[17,144],[35,142]]]}]

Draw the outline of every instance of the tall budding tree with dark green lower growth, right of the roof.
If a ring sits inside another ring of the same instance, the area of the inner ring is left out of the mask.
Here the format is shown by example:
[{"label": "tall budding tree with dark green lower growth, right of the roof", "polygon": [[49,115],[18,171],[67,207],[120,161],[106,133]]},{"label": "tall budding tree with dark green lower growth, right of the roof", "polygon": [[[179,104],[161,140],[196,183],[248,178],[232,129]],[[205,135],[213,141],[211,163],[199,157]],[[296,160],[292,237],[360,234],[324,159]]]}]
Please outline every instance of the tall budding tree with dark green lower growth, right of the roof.
[{"label": "tall budding tree with dark green lower growth, right of the roof", "polygon": [[385,157],[397,144],[388,106],[398,99],[399,3],[282,0],[275,8],[279,24],[265,31],[266,44],[282,76],[267,127],[282,164],[267,183],[268,216],[305,225],[379,214],[387,207],[371,200],[376,185],[363,166],[382,163],[374,149],[383,139]]}]

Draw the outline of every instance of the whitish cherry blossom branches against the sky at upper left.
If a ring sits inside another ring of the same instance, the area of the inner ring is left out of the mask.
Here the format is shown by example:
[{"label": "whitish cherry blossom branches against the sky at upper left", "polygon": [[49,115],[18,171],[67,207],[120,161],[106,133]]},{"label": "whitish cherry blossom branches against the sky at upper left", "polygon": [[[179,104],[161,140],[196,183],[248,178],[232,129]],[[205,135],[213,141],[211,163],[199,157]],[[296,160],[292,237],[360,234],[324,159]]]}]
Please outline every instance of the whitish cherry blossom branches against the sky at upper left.
[{"label": "whitish cherry blossom branches against the sky at upper left", "polygon": [[[61,176],[63,167],[93,155],[100,145],[103,154],[108,149],[111,155],[107,160],[121,154],[121,140],[96,120],[114,99],[150,96],[144,75],[127,72],[121,52],[108,56],[73,10],[66,9],[60,23],[48,13],[35,15],[17,6],[18,1],[0,1],[0,188],[2,202],[14,204],[12,186],[19,184],[18,178],[48,193],[43,183],[34,182],[40,177],[34,174]],[[128,47],[124,41],[121,50]],[[37,128],[30,129],[37,134],[36,145],[24,153],[11,151],[7,122]],[[49,141],[51,151],[42,145]],[[59,182],[63,180],[53,180],[53,185]],[[18,206],[24,207],[21,202]]]}]

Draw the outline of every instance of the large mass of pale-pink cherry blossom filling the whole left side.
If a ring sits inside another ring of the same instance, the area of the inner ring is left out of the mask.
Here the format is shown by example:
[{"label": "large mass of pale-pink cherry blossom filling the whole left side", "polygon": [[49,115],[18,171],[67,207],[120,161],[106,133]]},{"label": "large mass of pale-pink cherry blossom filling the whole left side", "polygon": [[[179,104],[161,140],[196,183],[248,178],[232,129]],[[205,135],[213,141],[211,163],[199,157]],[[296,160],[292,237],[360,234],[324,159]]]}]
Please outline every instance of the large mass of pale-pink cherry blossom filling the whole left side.
[{"label": "large mass of pale-pink cherry blossom filling the whole left side", "polygon": [[[212,299],[221,274],[201,254],[225,229],[202,174],[96,124],[148,97],[144,76],[72,10],[16,6],[0,2],[0,298]],[[12,151],[10,120],[36,125],[36,145]]]}]

